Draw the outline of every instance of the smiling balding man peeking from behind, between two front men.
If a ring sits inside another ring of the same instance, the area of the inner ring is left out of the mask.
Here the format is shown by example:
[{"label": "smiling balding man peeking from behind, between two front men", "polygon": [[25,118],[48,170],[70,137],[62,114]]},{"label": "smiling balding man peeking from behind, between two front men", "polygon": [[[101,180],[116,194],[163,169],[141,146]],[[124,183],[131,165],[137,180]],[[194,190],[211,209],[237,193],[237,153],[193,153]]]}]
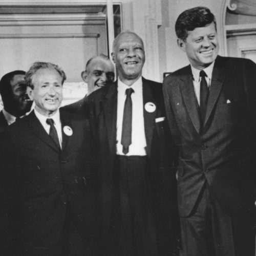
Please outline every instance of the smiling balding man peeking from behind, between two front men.
[{"label": "smiling balding man peeking from behind, between two front men", "polygon": [[72,104],[63,106],[63,109],[84,115],[87,113],[88,95],[114,81],[114,65],[107,56],[100,54],[87,61],[86,70],[81,73],[81,77],[87,83],[87,95]]}]

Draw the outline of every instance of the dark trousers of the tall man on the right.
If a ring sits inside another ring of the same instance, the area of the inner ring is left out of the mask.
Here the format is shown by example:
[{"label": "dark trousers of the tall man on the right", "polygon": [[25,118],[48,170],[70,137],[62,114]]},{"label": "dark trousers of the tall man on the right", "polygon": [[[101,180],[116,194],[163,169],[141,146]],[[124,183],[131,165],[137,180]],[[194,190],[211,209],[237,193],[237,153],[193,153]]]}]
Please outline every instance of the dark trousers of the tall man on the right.
[{"label": "dark trousers of the tall man on the right", "polygon": [[230,216],[211,197],[205,184],[195,209],[181,218],[182,256],[254,256],[252,216]]}]

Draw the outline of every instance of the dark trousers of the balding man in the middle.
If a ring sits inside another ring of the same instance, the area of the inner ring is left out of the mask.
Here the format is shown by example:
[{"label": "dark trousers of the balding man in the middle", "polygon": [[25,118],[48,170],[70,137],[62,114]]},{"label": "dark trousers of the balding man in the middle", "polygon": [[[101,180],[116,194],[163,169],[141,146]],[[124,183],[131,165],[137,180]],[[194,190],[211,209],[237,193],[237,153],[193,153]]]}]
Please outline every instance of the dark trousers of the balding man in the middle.
[{"label": "dark trousers of the balding man in the middle", "polygon": [[171,241],[163,234],[164,227],[157,213],[147,157],[117,156],[113,177],[111,225],[105,255],[172,255]]}]

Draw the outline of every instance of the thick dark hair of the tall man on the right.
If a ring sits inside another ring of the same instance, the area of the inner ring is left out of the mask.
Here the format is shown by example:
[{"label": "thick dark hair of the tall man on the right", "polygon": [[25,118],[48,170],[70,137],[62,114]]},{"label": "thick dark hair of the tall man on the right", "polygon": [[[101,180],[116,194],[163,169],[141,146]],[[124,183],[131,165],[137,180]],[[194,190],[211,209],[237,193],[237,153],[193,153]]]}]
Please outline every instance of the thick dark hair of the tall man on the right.
[{"label": "thick dark hair of the tall man on the right", "polygon": [[185,41],[188,31],[193,31],[195,28],[205,27],[212,22],[215,24],[215,29],[217,31],[215,16],[208,8],[199,6],[187,9],[177,18],[175,32],[178,38]]}]

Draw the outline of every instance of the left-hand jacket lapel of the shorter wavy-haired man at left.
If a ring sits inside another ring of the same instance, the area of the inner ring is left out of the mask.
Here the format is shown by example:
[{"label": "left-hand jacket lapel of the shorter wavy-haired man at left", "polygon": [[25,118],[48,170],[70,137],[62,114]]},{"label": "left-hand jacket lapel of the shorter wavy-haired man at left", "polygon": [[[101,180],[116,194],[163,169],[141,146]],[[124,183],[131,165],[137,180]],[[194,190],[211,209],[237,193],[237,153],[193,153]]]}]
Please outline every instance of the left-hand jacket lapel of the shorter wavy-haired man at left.
[{"label": "left-hand jacket lapel of the shorter wavy-haired man at left", "polygon": [[53,150],[58,152],[58,148],[55,145],[55,143],[52,141],[50,136],[47,134],[46,130],[44,127],[42,127],[40,121],[38,118],[35,116],[34,111],[32,111],[29,114],[29,126],[31,127],[32,133],[38,137],[40,140],[44,141],[46,144],[48,144]]}]

